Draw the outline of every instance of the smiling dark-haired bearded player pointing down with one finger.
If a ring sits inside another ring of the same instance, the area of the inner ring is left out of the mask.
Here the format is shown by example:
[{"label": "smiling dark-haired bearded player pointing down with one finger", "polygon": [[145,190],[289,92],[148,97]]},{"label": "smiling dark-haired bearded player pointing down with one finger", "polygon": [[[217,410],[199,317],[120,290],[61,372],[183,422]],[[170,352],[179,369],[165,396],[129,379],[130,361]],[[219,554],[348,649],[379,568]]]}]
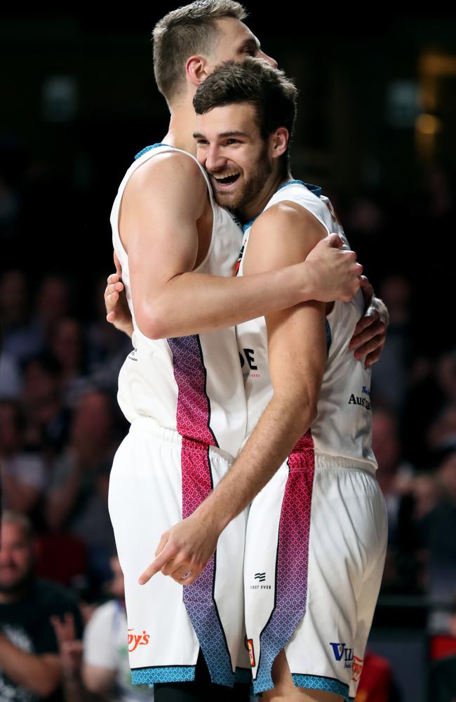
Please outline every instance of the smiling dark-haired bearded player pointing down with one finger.
[{"label": "smiling dark-haired bearded player pointing down with one finger", "polygon": [[[348,247],[321,189],[290,175],[295,101],[281,72],[251,59],[227,62],[196,91],[199,160],[217,202],[248,221],[240,275],[293,265],[333,230]],[[361,675],[387,547],[370,371],[349,350],[362,312],[360,292],[237,326],[250,437],[192,519],[163,534],[141,578],[185,569],[197,583],[218,534],[251,503],[246,630],[254,689],[268,701],[348,702]]]}]

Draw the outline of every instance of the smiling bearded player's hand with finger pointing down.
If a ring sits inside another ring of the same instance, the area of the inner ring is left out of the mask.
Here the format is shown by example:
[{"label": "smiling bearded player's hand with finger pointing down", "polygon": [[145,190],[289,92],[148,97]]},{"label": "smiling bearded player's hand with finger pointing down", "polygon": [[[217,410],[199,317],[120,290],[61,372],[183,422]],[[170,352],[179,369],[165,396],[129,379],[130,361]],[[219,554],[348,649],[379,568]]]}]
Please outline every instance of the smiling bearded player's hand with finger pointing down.
[{"label": "smiling bearded player's hand with finger pointing down", "polygon": [[141,574],[140,585],[156,573],[169,575],[180,585],[192,585],[203,572],[217,547],[220,531],[194,512],[162,534],[155,560]]}]

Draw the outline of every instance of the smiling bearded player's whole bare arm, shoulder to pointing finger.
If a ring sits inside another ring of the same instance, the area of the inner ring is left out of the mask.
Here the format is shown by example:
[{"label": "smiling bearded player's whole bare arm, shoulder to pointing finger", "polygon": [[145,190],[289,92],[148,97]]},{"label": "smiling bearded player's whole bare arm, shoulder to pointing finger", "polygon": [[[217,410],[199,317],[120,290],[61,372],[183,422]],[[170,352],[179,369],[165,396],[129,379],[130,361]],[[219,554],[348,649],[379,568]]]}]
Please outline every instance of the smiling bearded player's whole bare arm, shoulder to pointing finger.
[{"label": "smiling bearded player's whole bare arm, shoulder to pointing finger", "polygon": [[[282,225],[282,236],[274,235]],[[299,206],[281,204],[255,223],[246,272],[272,270],[304,258],[325,236],[318,221]],[[191,571],[192,583],[206,566],[222,529],[245,508],[286,459],[316,416],[326,364],[325,305],[300,303],[266,317],[269,369],[274,394],[246,446],[213,493],[194,514],[163,535],[145,582]],[[178,576],[175,576],[178,579]]]}]

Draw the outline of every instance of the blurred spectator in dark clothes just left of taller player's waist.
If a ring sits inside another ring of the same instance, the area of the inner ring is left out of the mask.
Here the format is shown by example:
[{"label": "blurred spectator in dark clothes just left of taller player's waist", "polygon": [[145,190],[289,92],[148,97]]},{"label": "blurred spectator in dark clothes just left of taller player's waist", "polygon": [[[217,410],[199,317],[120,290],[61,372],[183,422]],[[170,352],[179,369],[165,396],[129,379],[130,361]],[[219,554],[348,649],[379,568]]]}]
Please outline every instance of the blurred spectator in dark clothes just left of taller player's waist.
[{"label": "blurred spectator in dark clothes just left of taller player's waist", "polygon": [[89,390],[74,410],[69,446],[55,463],[46,499],[48,527],[78,536],[101,579],[109,572],[114,548],[107,490],[116,442],[111,399],[101,390]]}]

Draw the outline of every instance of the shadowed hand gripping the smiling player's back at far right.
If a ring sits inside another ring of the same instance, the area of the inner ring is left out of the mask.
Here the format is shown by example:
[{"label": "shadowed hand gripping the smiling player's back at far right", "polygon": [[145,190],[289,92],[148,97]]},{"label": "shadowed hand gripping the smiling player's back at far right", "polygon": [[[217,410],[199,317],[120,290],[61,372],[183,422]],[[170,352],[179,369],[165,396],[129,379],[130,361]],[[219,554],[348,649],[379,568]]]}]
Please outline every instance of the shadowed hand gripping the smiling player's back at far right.
[{"label": "shadowed hand gripping the smiling player's back at far right", "polygon": [[361,276],[361,289],[366,309],[364,316],[356,324],[349,349],[355,349],[356,359],[366,357],[364,364],[368,368],[377,362],[382,354],[387,339],[389,315],[386,305],[374,296],[373,287],[366,276]]}]

